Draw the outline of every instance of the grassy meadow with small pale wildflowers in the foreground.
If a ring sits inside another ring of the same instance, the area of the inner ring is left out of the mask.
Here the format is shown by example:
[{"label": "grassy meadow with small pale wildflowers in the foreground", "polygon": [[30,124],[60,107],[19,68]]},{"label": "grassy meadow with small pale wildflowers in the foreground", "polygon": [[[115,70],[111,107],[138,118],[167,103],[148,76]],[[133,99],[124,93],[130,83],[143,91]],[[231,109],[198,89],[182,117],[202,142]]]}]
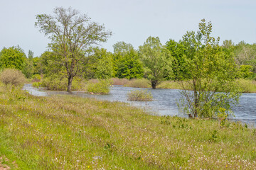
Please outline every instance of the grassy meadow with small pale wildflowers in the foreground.
[{"label": "grassy meadow with small pale wildflowers in the foreground", "polygon": [[0,157],[13,169],[254,169],[256,130],[1,86]]}]

